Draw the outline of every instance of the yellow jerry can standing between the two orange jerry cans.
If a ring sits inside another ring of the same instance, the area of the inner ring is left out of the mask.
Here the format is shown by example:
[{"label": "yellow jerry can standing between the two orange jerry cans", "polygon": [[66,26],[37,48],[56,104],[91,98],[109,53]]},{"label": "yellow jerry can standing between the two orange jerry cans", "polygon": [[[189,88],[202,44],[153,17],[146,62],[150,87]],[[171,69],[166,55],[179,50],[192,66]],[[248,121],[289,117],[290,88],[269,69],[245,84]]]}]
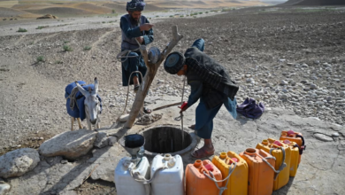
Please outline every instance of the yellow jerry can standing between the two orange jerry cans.
[{"label": "yellow jerry can standing between the two orange jerry cans", "polygon": [[237,153],[229,151],[221,152],[219,156],[215,155],[212,162],[223,175],[222,186],[226,187],[223,195],[248,194],[249,169],[246,160],[243,160]]}]

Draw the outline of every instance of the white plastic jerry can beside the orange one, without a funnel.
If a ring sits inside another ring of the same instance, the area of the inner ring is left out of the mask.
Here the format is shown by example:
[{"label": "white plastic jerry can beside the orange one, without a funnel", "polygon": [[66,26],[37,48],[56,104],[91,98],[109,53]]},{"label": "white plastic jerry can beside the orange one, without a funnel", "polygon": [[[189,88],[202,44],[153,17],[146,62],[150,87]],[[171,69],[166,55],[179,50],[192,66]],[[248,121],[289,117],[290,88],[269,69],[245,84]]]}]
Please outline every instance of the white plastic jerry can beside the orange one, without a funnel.
[{"label": "white plastic jerry can beside the orange one, without a funnel", "polygon": [[[167,168],[157,170],[164,166]],[[158,154],[152,161],[151,179],[152,195],[183,195],[183,162],[180,155]]]}]

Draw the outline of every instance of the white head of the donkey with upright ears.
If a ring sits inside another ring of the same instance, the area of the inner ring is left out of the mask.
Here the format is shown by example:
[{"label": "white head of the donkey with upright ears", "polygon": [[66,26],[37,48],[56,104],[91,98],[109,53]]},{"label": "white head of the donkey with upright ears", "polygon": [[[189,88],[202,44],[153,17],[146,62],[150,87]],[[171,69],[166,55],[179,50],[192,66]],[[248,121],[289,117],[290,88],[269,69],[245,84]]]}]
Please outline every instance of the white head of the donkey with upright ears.
[{"label": "white head of the donkey with upright ears", "polygon": [[97,98],[97,78],[95,78],[95,90],[91,90],[91,88],[88,88],[88,90],[84,90],[84,88],[82,88],[78,82],[75,83],[77,84],[78,90],[82,93],[82,95],[85,96],[84,105],[87,120],[90,121],[92,124],[96,124],[98,113],[101,112],[100,102]]}]

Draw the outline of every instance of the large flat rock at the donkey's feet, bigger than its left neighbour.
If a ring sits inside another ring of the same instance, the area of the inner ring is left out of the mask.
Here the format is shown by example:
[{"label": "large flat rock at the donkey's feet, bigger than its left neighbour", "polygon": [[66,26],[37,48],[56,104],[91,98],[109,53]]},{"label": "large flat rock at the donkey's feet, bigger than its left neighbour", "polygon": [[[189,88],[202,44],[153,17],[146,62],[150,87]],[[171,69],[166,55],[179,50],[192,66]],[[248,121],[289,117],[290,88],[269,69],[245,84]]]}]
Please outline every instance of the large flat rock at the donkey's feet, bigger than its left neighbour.
[{"label": "large flat rock at the donkey's feet, bigger than its left neighbour", "polygon": [[45,157],[64,156],[75,160],[93,148],[96,134],[96,131],[87,129],[66,131],[45,141],[39,151]]}]

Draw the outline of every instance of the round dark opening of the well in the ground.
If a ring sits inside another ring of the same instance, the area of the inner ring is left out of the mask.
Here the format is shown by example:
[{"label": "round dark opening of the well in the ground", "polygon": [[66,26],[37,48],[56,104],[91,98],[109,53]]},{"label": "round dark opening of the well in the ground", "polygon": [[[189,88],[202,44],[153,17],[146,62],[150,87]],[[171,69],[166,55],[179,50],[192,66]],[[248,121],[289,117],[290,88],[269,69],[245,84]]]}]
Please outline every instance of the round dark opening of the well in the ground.
[{"label": "round dark opening of the well in the ground", "polygon": [[162,153],[176,155],[191,151],[196,147],[197,136],[186,130],[183,133],[184,142],[182,142],[182,131],[179,126],[157,126],[146,129],[142,132],[142,136],[145,137],[145,154],[149,156]]}]

